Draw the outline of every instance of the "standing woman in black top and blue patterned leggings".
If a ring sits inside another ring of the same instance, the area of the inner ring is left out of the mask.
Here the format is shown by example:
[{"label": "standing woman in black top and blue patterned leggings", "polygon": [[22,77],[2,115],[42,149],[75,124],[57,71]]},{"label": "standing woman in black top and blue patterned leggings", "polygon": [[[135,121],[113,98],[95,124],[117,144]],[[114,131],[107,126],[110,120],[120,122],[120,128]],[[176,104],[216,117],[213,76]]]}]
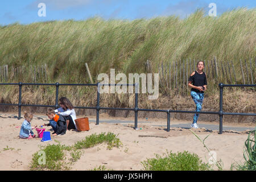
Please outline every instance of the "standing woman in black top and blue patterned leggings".
[{"label": "standing woman in black top and blue patterned leggings", "polygon": [[[199,61],[196,65],[197,70],[191,73],[188,78],[188,86],[191,87],[191,97],[196,104],[196,111],[201,111],[204,100],[204,92],[207,90],[207,76],[203,72],[204,61]],[[197,126],[197,119],[199,114],[195,114],[193,117],[193,123],[191,127],[199,128]]]}]

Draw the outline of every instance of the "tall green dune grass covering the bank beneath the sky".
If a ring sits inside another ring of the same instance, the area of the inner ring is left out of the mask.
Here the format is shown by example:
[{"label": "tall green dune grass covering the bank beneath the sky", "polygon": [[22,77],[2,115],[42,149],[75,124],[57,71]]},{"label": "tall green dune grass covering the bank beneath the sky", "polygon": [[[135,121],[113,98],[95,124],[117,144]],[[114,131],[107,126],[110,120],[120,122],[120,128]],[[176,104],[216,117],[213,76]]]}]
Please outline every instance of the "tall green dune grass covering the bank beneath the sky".
[{"label": "tall green dune grass covering the bank beneath the sky", "polygon": [[[85,63],[95,82],[99,73],[110,73],[110,68],[115,68],[116,73],[146,73],[146,60],[151,61],[155,73],[160,62],[188,57],[208,60],[213,56],[222,61],[233,60],[239,70],[240,59],[255,57],[255,17],[255,9],[241,8],[217,18],[204,16],[203,10],[197,10],[185,19],[176,16],[136,20],[95,17],[82,21],[15,23],[0,26],[0,65],[23,65],[26,70],[18,81],[32,82],[32,77],[26,74],[31,65],[47,64],[48,82],[61,83],[90,82]],[[242,79],[241,75],[237,77]],[[208,84],[217,88],[214,80],[209,80]],[[63,94],[76,97],[74,100],[79,102],[79,96],[90,96],[92,90],[77,92],[77,89],[65,88]],[[2,101],[17,99],[9,87],[0,91]],[[54,93],[54,89],[50,91]],[[44,100],[43,94],[48,94],[42,87],[33,92],[37,93],[36,102]],[[39,97],[42,100],[37,99]]]}]

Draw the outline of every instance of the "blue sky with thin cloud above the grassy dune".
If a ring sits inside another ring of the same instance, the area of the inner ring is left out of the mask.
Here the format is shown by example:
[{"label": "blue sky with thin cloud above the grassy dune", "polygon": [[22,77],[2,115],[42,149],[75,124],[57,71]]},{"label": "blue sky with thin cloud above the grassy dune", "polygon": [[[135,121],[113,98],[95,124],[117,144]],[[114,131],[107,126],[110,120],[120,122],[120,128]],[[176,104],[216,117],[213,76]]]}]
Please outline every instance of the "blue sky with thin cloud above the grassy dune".
[{"label": "blue sky with thin cloud above the grassy dune", "polygon": [[[48,20],[84,20],[94,16],[104,19],[138,19],[177,15],[185,18],[198,8],[206,12],[215,3],[217,16],[237,7],[255,8],[255,0],[1,0],[0,24],[28,24]],[[39,3],[46,5],[46,16],[39,17]]]}]

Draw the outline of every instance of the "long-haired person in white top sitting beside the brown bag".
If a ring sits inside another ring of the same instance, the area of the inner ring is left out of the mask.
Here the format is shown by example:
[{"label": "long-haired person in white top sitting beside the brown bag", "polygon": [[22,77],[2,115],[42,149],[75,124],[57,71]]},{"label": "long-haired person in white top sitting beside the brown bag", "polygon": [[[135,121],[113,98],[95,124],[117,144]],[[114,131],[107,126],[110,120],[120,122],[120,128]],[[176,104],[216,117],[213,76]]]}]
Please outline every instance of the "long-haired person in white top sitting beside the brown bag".
[{"label": "long-haired person in white top sitting beside the brown bag", "polygon": [[55,113],[62,115],[67,122],[67,130],[77,129],[75,119],[76,119],[76,112],[73,109],[73,105],[66,97],[61,97],[59,99],[60,108],[55,110]]}]

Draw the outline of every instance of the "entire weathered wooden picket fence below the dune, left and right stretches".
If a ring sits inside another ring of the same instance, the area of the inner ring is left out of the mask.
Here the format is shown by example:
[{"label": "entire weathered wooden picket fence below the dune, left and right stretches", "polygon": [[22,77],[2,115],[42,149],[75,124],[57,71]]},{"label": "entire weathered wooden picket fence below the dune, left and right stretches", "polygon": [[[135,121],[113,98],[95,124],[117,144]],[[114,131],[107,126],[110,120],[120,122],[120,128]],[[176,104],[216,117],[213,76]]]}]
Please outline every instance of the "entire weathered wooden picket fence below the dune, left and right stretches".
[{"label": "entire weathered wooden picket fence below the dune, left and right stretches", "polygon": [[[254,61],[253,61],[254,60]],[[184,93],[189,90],[189,75],[196,70],[196,64],[199,60],[184,59],[170,60],[168,62],[160,62],[158,66],[159,72],[159,88],[181,89]],[[204,60],[204,72],[207,74],[208,84],[214,85],[220,82],[224,84],[254,84],[255,78],[255,61],[256,59],[236,61],[222,61],[213,57],[212,60]],[[238,65],[238,63],[240,63]],[[152,63],[146,61],[146,70],[153,73]],[[0,81],[2,83],[18,82],[20,78],[29,77],[31,82],[45,82],[49,80],[49,70],[46,64],[38,66],[13,67],[10,65],[0,65]],[[216,86],[216,85],[214,85]]]}]

